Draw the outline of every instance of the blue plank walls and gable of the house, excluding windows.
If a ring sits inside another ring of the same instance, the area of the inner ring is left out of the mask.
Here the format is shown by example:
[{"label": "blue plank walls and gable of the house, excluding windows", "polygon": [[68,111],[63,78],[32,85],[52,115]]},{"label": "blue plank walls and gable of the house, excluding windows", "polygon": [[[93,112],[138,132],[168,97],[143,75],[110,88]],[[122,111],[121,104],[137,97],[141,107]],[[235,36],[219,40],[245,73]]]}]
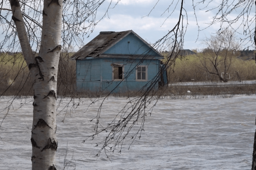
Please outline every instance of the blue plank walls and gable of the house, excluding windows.
[{"label": "blue plank walls and gable of the house, excluding windows", "polygon": [[[104,54],[120,54],[127,55],[153,55],[161,57],[148,45],[146,45],[135,34],[130,33],[122,40],[117,42],[111,48],[106,50]],[[113,81],[112,69],[113,64],[120,64],[124,67],[124,80]],[[148,66],[147,81],[136,81],[136,66]],[[86,91],[106,91],[110,92],[113,89],[115,93],[126,93],[129,91],[139,91],[148,82],[155,79],[155,76],[160,71],[160,60],[157,59],[127,59],[127,58],[96,58],[76,61],[76,86],[78,90]],[[129,76],[127,76],[129,74]],[[120,83],[121,82],[121,83]],[[119,85],[118,85],[119,84]],[[118,85],[118,87],[116,87]],[[156,82],[156,88],[158,81]]]}]

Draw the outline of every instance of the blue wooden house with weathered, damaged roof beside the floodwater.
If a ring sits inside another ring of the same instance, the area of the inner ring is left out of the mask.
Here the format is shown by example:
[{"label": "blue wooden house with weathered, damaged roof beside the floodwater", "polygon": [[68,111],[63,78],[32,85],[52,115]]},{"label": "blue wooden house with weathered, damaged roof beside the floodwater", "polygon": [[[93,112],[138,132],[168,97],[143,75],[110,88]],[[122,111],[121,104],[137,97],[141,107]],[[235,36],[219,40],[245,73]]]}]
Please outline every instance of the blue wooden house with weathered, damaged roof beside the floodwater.
[{"label": "blue wooden house with weathered, damaged roof beside the floodwater", "polygon": [[[153,81],[167,84],[163,56],[133,30],[100,32],[72,56],[76,60],[79,91],[126,93],[139,91]],[[161,79],[161,77],[164,77]]]}]

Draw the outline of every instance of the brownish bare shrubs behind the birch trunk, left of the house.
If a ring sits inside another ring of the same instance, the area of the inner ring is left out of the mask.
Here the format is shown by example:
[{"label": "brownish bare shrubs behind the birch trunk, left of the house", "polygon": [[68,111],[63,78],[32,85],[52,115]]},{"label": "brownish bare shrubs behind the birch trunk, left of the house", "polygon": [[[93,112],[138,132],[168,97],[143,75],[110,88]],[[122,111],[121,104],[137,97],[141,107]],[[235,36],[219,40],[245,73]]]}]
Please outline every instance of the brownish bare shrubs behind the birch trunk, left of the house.
[{"label": "brownish bare shrubs behind the birch trunk, left of the house", "polygon": [[[58,95],[71,96],[76,89],[75,61],[70,53],[61,53],[58,70]],[[21,53],[0,54],[1,95],[33,96],[33,82]]]}]

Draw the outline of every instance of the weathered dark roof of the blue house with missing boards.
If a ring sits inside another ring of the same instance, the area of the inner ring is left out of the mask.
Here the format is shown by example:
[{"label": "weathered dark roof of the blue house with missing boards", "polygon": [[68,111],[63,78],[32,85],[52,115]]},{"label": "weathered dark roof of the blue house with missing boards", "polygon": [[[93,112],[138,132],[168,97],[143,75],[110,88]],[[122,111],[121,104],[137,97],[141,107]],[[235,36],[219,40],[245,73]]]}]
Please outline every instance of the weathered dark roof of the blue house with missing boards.
[{"label": "weathered dark roof of the blue house with missing boards", "polygon": [[[117,42],[121,41],[124,37],[133,33],[137,36],[141,41],[143,41],[149,48],[154,50],[157,54],[162,56],[157,50],[152,48],[145,40],[143,40],[139,35],[137,35],[133,30],[127,30],[122,32],[114,32],[114,31],[102,31],[99,35],[97,35],[92,41],[88,42],[85,46],[83,46],[78,52],[71,56],[72,60],[85,59],[86,57],[96,57],[104,52],[106,52],[109,48],[113,47]],[[134,55],[131,55],[134,56]]]}]

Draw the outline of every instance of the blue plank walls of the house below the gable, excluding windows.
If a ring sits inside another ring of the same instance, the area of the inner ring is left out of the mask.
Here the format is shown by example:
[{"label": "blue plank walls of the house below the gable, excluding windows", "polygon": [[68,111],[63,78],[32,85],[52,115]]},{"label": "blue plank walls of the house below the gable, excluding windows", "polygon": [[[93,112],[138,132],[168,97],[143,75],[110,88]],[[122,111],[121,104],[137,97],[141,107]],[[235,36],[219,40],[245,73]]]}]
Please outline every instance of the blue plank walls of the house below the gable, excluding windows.
[{"label": "blue plank walls of the house below the gable, excluding windows", "polygon": [[[147,81],[136,81],[136,70],[134,68],[138,63],[139,65],[148,66]],[[77,60],[76,64],[76,85],[78,90],[93,92],[102,90],[110,92],[113,89],[115,89],[113,91],[115,93],[126,93],[128,89],[129,91],[139,91],[155,78],[160,69],[160,60],[141,61],[140,59],[98,58]],[[122,82],[112,80],[113,64],[123,65],[125,79]],[[118,84],[119,86],[116,87]]]}]

